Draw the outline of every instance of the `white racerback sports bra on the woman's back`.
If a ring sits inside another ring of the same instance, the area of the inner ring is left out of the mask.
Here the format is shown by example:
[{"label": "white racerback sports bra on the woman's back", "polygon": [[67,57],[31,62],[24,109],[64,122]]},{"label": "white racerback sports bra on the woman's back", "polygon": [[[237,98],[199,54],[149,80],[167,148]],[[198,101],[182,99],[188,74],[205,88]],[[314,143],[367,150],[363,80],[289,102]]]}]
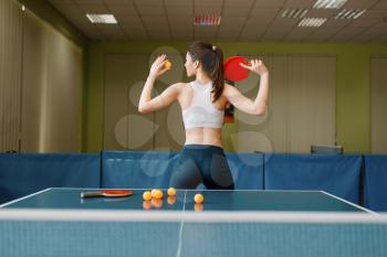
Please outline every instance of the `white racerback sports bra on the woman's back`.
[{"label": "white racerback sports bra on the woman's back", "polygon": [[224,111],[212,105],[212,83],[201,85],[197,82],[189,83],[194,96],[191,105],[182,110],[182,121],[186,129],[189,128],[221,128]]}]

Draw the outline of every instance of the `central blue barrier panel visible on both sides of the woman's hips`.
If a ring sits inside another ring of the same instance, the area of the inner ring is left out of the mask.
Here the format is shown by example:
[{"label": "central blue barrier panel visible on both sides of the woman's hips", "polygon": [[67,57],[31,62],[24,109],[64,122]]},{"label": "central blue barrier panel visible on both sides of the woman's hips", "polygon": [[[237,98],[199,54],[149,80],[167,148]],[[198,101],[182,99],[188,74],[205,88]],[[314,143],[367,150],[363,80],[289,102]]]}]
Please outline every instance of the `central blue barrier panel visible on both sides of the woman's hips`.
[{"label": "central blue barrier panel visible on both sides of the woman's hips", "polygon": [[[166,189],[176,157],[177,152],[168,151],[105,151],[102,158],[102,186]],[[263,189],[263,154],[227,153],[226,157],[236,189]]]}]

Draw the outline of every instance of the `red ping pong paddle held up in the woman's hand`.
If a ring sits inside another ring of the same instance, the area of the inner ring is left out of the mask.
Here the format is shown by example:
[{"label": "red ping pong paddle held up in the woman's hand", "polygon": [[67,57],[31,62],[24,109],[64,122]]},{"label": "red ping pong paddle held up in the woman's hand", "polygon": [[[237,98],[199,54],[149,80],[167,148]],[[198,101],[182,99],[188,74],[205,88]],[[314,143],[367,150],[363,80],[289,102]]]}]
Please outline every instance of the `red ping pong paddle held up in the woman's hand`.
[{"label": "red ping pong paddle held up in the woman's hand", "polygon": [[233,56],[224,62],[224,78],[227,81],[240,82],[249,76],[249,69],[242,67],[240,63],[249,65],[248,60],[242,56]]}]

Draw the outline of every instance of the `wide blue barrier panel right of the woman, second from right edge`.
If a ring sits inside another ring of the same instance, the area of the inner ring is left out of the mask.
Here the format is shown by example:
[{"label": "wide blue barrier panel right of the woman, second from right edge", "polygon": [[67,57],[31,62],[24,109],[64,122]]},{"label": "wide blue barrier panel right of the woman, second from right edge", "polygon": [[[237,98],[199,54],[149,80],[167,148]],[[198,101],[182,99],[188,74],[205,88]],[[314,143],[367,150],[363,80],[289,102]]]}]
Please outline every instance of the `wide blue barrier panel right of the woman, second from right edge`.
[{"label": "wide blue barrier panel right of the woman, second from right edge", "polygon": [[264,156],[265,190],[322,190],[359,202],[362,156]]}]

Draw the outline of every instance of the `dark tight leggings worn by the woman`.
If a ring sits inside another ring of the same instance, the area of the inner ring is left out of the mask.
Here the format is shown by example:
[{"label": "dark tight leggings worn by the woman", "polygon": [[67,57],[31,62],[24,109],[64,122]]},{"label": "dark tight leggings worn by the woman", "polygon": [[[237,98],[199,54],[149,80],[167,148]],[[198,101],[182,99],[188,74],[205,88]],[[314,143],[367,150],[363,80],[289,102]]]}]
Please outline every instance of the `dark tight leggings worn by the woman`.
[{"label": "dark tight leggings worn by the woman", "polygon": [[178,153],[170,186],[233,190],[234,184],[223,149],[207,144],[186,144]]}]

